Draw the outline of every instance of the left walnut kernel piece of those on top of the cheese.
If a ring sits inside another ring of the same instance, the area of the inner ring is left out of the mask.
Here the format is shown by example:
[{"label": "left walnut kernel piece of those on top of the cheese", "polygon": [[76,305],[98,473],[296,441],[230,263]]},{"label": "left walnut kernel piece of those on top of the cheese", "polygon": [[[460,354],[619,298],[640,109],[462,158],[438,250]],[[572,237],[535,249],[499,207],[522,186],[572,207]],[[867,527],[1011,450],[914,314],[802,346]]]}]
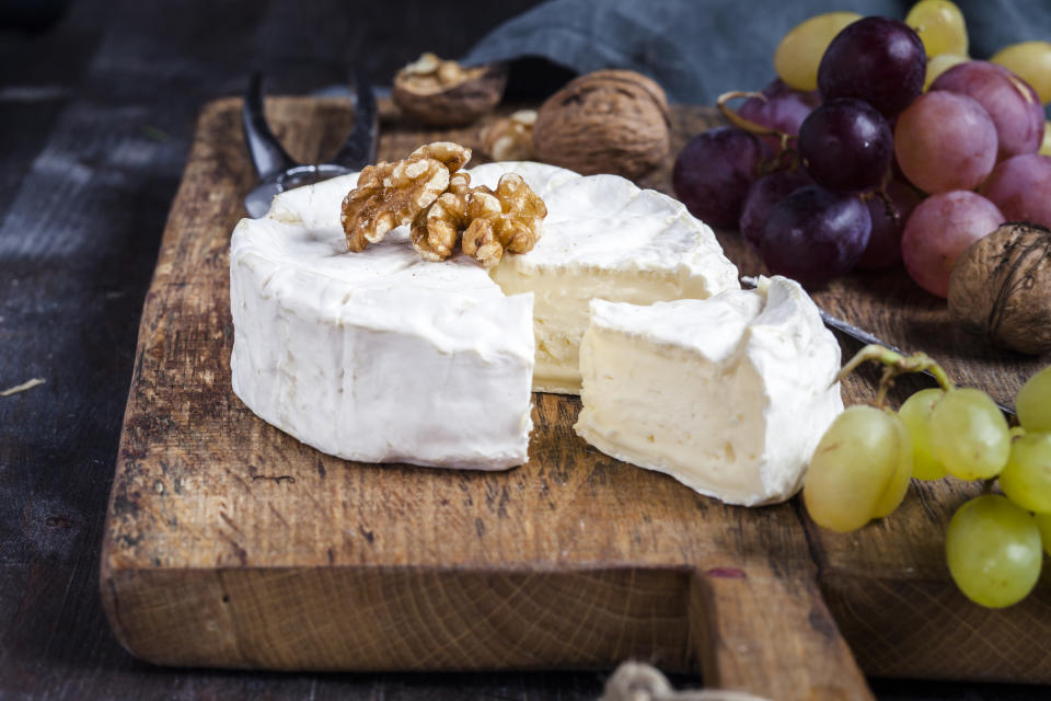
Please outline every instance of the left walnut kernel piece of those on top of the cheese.
[{"label": "left walnut kernel piece of those on top of the cheese", "polygon": [[339,220],[347,248],[363,251],[391,229],[411,223],[449,187],[450,170],[459,170],[470,159],[470,149],[438,141],[404,160],[367,165],[343,200]]}]

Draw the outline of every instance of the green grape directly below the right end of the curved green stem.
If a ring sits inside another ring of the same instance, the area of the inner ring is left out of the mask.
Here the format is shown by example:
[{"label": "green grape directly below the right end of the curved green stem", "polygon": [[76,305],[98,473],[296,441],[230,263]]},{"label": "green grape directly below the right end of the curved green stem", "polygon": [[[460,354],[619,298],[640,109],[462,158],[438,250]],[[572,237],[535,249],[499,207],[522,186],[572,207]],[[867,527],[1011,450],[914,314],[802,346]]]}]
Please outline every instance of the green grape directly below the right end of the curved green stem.
[{"label": "green grape directly below the right end of the curved green stem", "polygon": [[934,457],[952,476],[988,480],[1007,464],[1007,420],[985,392],[949,390],[931,412],[931,445]]}]

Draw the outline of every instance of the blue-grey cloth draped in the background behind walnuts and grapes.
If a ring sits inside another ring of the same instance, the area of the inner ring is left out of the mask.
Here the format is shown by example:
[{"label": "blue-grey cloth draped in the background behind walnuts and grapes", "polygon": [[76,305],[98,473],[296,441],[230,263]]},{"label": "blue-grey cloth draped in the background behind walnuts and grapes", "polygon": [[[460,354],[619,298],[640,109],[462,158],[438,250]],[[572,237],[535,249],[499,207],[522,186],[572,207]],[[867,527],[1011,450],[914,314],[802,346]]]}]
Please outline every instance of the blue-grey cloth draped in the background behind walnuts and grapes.
[{"label": "blue-grey cloth draped in the background behind walnuts and grapes", "polygon": [[[774,73],[781,37],[832,10],[904,19],[910,0],[552,0],[484,36],[464,60],[543,57],[575,72],[630,68],[674,102],[713,104],[759,90]],[[1007,44],[1051,39],[1049,0],[957,0],[974,58]]]}]

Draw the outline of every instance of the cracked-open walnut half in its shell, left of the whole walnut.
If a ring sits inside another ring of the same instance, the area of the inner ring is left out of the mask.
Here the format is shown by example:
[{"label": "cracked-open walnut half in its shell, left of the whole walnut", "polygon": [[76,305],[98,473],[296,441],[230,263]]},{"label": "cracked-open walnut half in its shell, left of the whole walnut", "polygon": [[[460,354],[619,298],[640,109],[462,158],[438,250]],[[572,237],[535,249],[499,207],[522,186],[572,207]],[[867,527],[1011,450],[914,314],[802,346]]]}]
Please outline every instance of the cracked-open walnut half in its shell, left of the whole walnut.
[{"label": "cracked-open walnut half in its shell, left of the whole walnut", "polygon": [[391,97],[408,116],[432,126],[463,126],[492,111],[504,97],[507,66],[463,68],[424,54],[394,77]]}]

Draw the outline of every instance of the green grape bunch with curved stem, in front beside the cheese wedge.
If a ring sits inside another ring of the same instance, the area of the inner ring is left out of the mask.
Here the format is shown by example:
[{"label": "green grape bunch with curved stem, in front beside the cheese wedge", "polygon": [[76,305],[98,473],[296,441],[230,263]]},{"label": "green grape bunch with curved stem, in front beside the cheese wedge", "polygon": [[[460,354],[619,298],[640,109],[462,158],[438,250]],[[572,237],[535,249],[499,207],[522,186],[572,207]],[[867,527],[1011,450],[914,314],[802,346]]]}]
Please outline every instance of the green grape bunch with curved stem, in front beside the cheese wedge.
[{"label": "green grape bunch with curved stem, in front beside the cheese wedge", "polygon": [[[902,356],[866,346],[840,372],[866,360],[886,366],[876,406],[854,405],[822,436],[802,490],[810,517],[847,532],[889,516],[910,478],[981,480],[981,496],[962,504],[945,535],[957,587],[989,608],[1023,600],[1051,554],[1051,366],[1029,378],[1015,400],[1010,428],[993,399],[957,388],[924,354]],[[939,387],[909,397],[898,412],[882,407],[893,377],[928,370]],[[993,492],[994,485],[1003,494]]]}]

